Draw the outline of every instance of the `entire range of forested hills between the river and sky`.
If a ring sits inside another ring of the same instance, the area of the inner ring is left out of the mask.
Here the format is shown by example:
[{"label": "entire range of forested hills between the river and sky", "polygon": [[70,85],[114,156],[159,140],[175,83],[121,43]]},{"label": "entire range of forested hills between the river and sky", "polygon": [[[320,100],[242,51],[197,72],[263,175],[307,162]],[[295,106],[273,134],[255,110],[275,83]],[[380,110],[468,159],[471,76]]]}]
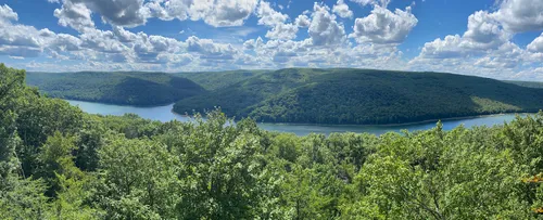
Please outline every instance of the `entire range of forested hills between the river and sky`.
[{"label": "entire range of forested hills between the river and sky", "polygon": [[543,108],[543,83],[445,73],[286,68],[201,73],[28,73],[50,96],[129,105],[220,107],[267,122],[403,124]]}]

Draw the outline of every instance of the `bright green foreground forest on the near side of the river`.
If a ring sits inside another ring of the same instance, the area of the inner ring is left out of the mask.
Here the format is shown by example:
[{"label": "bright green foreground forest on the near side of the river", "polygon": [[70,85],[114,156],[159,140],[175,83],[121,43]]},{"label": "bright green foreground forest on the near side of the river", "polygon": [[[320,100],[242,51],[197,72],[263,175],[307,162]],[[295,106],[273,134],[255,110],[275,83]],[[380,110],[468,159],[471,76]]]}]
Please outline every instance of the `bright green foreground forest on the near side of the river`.
[{"label": "bright green foreground forest on the near side of the river", "polygon": [[0,219],[538,219],[542,171],[543,112],[296,137],[89,115],[0,65]]}]

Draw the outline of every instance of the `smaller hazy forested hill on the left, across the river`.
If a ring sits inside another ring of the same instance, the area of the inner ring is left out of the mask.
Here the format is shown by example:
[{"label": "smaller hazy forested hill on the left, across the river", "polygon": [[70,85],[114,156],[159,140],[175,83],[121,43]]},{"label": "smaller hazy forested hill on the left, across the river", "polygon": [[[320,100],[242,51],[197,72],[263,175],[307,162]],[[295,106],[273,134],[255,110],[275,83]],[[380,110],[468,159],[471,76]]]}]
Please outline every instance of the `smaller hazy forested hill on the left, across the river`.
[{"label": "smaller hazy forested hill on the left, across the river", "polygon": [[163,73],[28,73],[27,83],[53,98],[130,105],[169,104],[205,92]]}]

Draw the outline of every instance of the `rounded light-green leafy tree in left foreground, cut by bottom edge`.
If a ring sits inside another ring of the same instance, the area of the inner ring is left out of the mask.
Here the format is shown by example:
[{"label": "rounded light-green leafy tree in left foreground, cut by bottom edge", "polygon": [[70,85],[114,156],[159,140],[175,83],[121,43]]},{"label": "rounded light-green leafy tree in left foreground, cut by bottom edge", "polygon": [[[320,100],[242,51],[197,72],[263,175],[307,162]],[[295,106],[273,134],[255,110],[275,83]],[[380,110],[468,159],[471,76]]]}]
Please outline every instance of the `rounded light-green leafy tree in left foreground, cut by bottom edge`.
[{"label": "rounded light-green leafy tree in left foreground, cut by bottom edge", "polygon": [[151,140],[110,137],[100,148],[94,200],[109,219],[172,219],[179,193],[179,165]]}]

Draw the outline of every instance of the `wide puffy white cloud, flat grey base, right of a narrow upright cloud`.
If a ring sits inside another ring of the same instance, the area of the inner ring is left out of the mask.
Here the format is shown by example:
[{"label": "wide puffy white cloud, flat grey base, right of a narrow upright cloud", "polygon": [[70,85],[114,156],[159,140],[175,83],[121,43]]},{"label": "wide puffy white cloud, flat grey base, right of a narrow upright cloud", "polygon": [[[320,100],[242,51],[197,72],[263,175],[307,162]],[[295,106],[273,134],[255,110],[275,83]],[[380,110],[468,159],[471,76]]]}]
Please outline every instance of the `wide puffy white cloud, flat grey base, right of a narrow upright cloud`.
[{"label": "wide puffy white cloud, flat grey base, right of a narrow upright cloud", "polygon": [[349,37],[358,42],[371,43],[401,43],[418,20],[411,13],[411,7],[405,11],[396,9],[394,12],[375,5],[371,14],[354,22],[354,33]]}]

